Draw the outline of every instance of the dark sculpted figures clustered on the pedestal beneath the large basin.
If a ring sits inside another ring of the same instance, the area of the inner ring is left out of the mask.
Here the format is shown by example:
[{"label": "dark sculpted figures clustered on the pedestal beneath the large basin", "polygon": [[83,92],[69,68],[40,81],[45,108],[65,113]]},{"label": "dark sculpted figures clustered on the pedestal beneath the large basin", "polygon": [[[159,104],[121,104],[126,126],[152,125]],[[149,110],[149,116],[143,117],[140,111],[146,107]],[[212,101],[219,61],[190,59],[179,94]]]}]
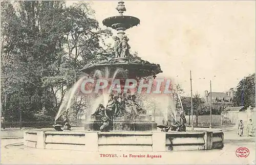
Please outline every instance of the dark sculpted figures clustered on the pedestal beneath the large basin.
[{"label": "dark sculpted figures clustered on the pedestal beneath the large basin", "polygon": [[127,116],[131,116],[132,119],[135,119],[136,116],[142,113],[142,108],[136,100],[135,95],[122,97],[111,94],[106,107],[99,104],[95,113],[92,115],[101,116],[102,125],[100,126],[100,131],[109,131],[110,122],[113,120],[113,117],[121,117],[126,114]]}]

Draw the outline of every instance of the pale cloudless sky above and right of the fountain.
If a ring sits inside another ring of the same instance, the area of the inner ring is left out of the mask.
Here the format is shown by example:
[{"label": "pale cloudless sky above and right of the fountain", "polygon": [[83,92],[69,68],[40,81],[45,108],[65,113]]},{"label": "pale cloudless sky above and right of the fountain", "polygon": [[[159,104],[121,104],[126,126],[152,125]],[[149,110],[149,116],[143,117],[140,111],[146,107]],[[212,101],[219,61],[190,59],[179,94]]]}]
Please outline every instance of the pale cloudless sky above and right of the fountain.
[{"label": "pale cloudless sky above and right of the fountain", "polygon": [[[67,2],[68,5],[75,1]],[[99,21],[119,15],[118,1],[91,1]],[[190,95],[225,92],[255,73],[255,1],[124,1],[123,15],[140,25],[126,30],[131,50],[158,63]],[[116,34],[115,30],[112,30]]]}]

